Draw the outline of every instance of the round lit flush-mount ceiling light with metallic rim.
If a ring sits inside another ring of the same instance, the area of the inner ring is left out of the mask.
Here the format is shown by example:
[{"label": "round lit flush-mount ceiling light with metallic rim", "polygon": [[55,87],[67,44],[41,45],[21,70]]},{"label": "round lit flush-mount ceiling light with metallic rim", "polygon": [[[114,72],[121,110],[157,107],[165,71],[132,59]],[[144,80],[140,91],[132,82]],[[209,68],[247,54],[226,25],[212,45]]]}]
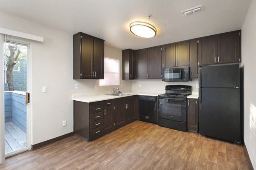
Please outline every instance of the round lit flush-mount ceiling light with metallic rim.
[{"label": "round lit flush-mount ceiling light with metallic rim", "polygon": [[132,34],[143,38],[151,38],[157,34],[157,29],[154,26],[140,21],[132,22],[130,24],[130,31]]}]

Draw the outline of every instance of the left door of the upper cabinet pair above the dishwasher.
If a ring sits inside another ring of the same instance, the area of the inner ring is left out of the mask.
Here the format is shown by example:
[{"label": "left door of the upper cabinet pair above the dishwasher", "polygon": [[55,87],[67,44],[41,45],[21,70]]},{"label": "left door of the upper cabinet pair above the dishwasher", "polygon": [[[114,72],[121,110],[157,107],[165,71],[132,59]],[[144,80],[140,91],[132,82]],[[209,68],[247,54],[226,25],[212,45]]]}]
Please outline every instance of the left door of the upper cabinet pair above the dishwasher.
[{"label": "left door of the upper cabinet pair above the dishwasher", "polygon": [[148,74],[147,49],[137,50],[137,79],[146,79]]}]

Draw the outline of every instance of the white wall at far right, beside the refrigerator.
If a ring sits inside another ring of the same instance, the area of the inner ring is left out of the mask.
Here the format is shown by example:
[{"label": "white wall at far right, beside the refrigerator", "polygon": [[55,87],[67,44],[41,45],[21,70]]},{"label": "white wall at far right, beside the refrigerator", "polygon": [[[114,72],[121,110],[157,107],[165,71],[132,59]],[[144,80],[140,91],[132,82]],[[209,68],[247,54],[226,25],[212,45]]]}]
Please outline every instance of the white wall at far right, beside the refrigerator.
[{"label": "white wall at far right, beside the refrigerator", "polygon": [[252,0],[242,27],[244,66],[244,143],[256,169],[256,0]]}]

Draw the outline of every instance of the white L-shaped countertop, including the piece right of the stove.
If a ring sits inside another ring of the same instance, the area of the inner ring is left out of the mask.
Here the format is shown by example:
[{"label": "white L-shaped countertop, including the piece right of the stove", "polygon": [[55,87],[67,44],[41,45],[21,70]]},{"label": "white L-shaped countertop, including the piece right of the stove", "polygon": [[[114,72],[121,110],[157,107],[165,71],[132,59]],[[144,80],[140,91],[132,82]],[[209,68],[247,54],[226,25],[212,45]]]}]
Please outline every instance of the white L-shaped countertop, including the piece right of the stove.
[{"label": "white L-shaped countertop, including the piece right of the stove", "polygon": [[[118,99],[121,97],[128,97],[128,96],[134,96],[134,95],[144,95],[144,96],[158,96],[159,94],[163,94],[161,92],[127,92],[123,93],[127,94],[125,96],[111,96],[106,94],[99,94],[99,93],[87,93],[87,94],[73,94],[72,99],[79,102],[99,102],[103,100],[109,100],[109,99]],[[198,92],[192,92],[191,95],[188,96],[190,99],[198,99]]]}]

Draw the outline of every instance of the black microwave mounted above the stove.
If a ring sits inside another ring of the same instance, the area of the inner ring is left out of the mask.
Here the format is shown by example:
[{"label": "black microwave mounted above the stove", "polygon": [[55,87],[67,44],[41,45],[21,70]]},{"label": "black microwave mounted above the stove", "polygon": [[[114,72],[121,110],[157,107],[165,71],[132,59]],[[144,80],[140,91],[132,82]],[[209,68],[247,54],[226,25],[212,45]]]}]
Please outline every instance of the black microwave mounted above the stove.
[{"label": "black microwave mounted above the stove", "polygon": [[163,68],[162,81],[164,82],[188,82],[189,66]]}]

